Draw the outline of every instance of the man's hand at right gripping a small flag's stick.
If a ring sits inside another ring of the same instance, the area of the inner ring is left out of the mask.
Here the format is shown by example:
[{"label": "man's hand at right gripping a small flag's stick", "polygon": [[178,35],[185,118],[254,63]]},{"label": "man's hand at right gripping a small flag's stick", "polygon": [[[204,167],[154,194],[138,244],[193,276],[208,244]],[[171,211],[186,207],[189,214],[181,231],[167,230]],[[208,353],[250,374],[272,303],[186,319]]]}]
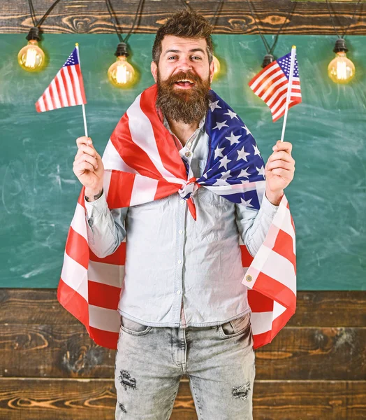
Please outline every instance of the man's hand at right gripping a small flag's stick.
[{"label": "man's hand at right gripping a small flag's stick", "polygon": [[293,180],[295,160],[291,156],[292,144],[288,141],[277,141],[273,153],[265,165],[265,195],[278,206],[284,195],[284,189]]}]

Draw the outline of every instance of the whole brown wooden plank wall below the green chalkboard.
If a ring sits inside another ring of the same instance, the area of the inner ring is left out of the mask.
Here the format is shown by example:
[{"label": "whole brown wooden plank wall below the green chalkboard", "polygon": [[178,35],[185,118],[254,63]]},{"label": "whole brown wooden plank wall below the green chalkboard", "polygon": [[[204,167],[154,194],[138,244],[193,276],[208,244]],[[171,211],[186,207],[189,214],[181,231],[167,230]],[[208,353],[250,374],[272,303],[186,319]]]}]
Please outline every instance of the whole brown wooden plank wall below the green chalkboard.
[{"label": "whole brown wooden plank wall below the green chalkboard", "polygon": [[[254,419],[365,419],[365,318],[363,291],[299,292],[295,315],[256,350]],[[114,363],[56,290],[0,289],[0,419],[114,419]],[[171,419],[197,419],[187,377]]]}]

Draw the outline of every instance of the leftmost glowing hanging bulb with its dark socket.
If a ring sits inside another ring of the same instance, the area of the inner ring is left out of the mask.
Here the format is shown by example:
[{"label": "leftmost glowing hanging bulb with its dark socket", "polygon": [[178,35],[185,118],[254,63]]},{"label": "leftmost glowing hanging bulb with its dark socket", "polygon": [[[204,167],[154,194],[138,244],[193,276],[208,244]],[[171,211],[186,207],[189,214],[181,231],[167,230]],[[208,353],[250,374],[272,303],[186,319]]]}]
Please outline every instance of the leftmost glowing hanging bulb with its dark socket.
[{"label": "leftmost glowing hanging bulb with its dark socket", "polygon": [[40,71],[45,65],[45,53],[38,46],[40,40],[39,29],[37,27],[31,28],[26,39],[28,45],[20,50],[17,61],[24,70]]}]

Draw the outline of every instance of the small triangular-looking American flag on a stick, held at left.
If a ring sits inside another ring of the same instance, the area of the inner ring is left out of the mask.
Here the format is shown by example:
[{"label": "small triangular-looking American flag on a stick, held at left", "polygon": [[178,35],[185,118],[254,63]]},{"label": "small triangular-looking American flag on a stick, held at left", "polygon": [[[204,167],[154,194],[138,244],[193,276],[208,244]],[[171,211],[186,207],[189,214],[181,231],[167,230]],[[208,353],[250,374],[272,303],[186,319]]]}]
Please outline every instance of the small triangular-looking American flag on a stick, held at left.
[{"label": "small triangular-looking American flag on a stick, held at left", "polygon": [[79,48],[76,46],[71,55],[66,59],[45,92],[36,102],[38,112],[51,111],[86,104],[84,83],[80,69]]}]

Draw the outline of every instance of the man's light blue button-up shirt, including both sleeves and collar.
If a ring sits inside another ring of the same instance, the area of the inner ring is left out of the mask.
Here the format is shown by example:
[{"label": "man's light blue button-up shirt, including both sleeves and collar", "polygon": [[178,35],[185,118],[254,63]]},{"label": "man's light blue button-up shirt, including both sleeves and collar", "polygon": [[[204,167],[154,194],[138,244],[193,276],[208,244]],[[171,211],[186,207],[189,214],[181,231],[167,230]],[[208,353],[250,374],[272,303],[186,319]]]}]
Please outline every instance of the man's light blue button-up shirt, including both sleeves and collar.
[{"label": "man's light blue button-up shirt, including both sleeves and collar", "polygon": [[[170,131],[166,120],[164,125]],[[173,138],[193,176],[202,176],[209,151],[205,118],[184,147]],[[241,283],[240,238],[254,256],[278,207],[265,194],[258,211],[204,187],[193,200],[196,221],[178,193],[111,211],[104,193],[85,201],[89,246],[98,257],[113,253],[126,237],[118,305],[126,318],[150,326],[204,327],[251,311]]]}]

